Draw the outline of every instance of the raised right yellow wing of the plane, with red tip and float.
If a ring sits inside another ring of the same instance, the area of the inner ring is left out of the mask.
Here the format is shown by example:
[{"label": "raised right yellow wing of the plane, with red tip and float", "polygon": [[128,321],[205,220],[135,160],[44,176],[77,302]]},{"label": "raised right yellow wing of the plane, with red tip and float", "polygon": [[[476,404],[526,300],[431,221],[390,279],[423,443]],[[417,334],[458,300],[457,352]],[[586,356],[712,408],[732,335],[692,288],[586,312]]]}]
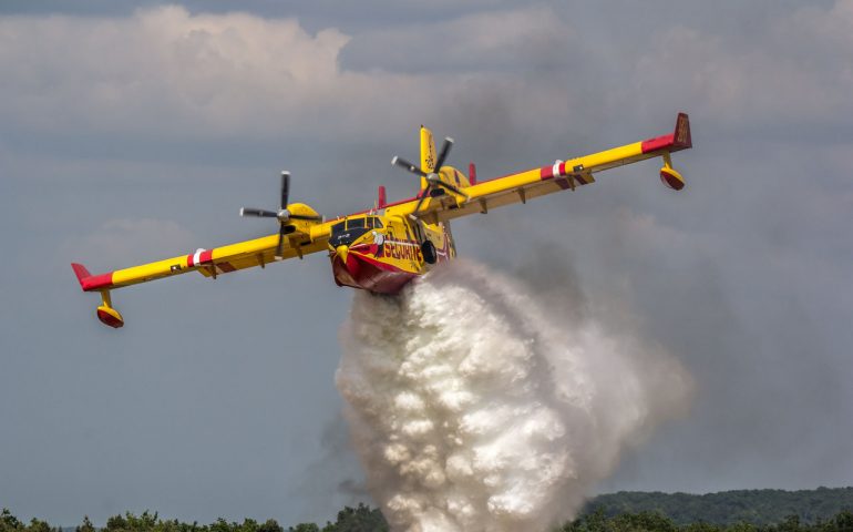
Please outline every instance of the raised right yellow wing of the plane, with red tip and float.
[{"label": "raised right yellow wing of the plane, with red tip and float", "polygon": [[[685,185],[680,174],[671,167],[669,154],[692,147],[690,122],[680,113],[672,133],[648,139],[633,144],[614,147],[604,152],[555,161],[552,164],[524,172],[476,183],[463,188],[467,197],[448,192],[424,202],[418,216],[428,221],[448,221],[474,213],[487,213],[492,208],[513,203],[526,203],[527,200],[562,191],[574,191],[595,182],[594,174],[645,161],[662,157],[664,167],[660,178],[667,186],[681,190]],[[417,202],[410,202],[412,209]],[[409,204],[398,208],[404,211]]]}]

